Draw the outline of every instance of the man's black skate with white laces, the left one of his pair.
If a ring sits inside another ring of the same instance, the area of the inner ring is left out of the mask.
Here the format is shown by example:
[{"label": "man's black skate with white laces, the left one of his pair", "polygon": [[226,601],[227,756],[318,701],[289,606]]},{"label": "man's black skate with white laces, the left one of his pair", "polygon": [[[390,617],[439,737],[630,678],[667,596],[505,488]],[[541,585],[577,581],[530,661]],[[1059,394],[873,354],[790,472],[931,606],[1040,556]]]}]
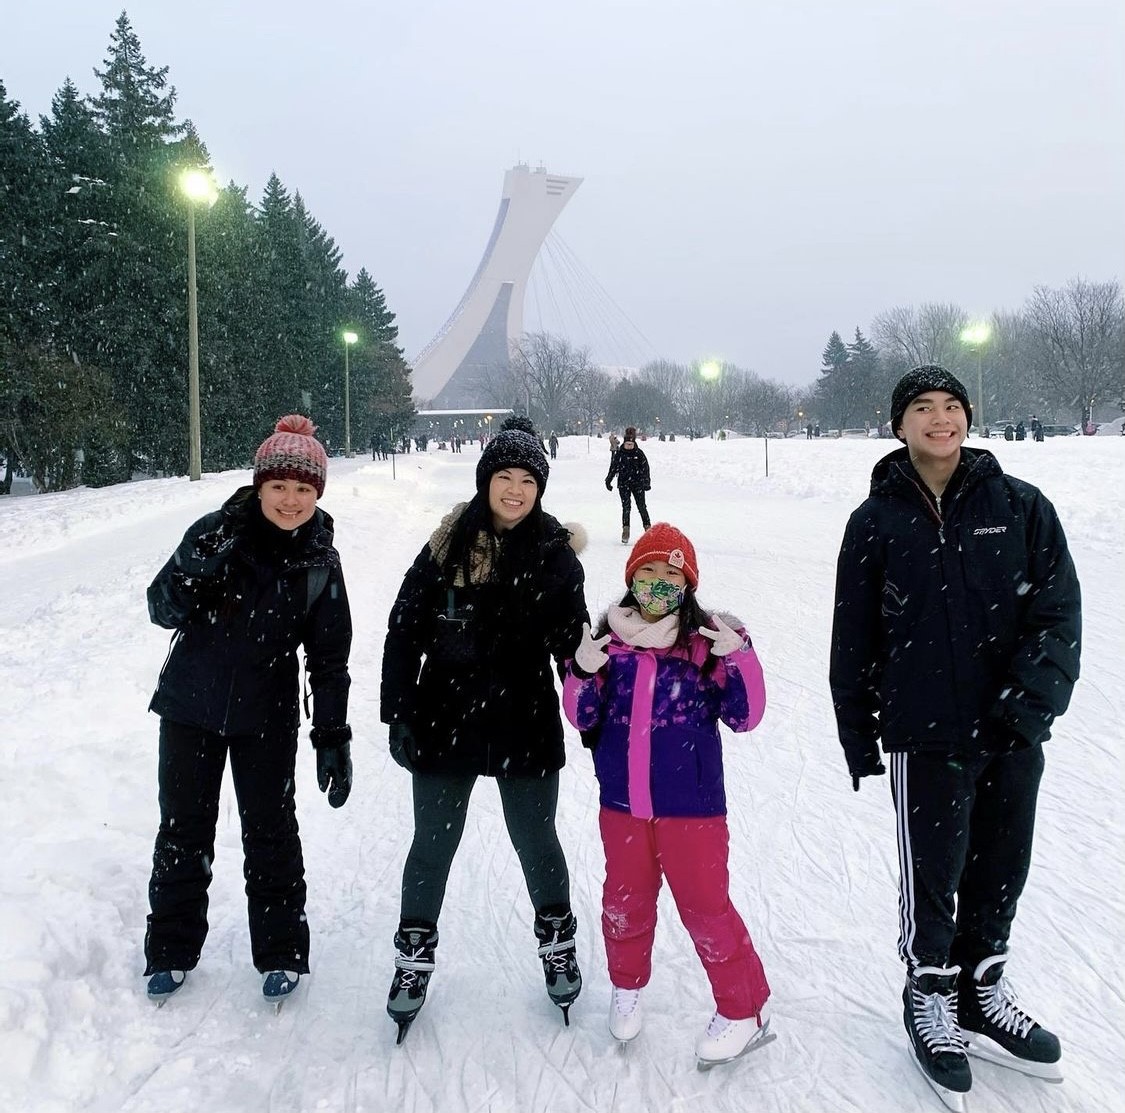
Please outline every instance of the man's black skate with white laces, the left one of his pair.
[{"label": "man's black skate with white laces, the left one of his pair", "polygon": [[918,967],[902,990],[902,1017],[915,1062],[942,1102],[963,1113],[973,1084],[957,1025],[957,967]]}]

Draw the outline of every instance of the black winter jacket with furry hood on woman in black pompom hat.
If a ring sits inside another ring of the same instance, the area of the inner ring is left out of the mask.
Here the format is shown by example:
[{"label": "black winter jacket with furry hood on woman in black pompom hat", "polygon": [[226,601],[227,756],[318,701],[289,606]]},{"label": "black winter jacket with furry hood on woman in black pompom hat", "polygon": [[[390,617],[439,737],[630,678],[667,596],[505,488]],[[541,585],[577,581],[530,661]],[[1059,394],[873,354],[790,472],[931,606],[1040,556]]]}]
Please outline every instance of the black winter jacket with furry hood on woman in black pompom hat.
[{"label": "black winter jacket with furry hood on woman in black pompom hat", "polygon": [[569,531],[542,515],[543,539],[521,566],[521,522],[501,535],[484,583],[450,586],[432,541],[406,573],[382,654],[380,717],[406,722],[418,772],[541,775],[566,761],[551,658],[574,655],[588,621]]}]

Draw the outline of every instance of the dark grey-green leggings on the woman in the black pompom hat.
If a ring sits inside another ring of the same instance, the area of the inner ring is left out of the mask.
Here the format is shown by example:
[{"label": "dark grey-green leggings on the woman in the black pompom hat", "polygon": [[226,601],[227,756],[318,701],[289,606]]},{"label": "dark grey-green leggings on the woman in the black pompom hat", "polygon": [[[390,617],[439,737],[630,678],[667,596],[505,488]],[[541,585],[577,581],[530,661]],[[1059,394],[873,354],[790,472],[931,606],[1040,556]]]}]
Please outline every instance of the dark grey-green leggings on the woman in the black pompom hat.
[{"label": "dark grey-green leggings on the woman in the black pompom hat", "polygon": [[[461,842],[475,775],[414,774],[414,842],[403,869],[402,918],[436,924]],[[559,774],[497,777],[504,824],[537,912],[570,904],[570,874],[555,831]]]}]

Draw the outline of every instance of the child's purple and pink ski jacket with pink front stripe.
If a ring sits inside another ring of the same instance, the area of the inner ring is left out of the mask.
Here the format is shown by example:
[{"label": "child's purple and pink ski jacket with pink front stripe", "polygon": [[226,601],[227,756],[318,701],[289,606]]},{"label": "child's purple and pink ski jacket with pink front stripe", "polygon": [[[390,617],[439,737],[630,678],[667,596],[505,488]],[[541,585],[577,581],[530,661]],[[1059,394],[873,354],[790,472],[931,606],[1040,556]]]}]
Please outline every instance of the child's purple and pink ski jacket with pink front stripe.
[{"label": "child's purple and pink ski jacket with pink front stripe", "polygon": [[747,643],[724,657],[693,634],[688,650],[640,649],[613,635],[609,663],[562,685],[567,719],[594,730],[603,807],[638,818],[723,816],[719,720],[753,730],[766,707],[757,654]]}]

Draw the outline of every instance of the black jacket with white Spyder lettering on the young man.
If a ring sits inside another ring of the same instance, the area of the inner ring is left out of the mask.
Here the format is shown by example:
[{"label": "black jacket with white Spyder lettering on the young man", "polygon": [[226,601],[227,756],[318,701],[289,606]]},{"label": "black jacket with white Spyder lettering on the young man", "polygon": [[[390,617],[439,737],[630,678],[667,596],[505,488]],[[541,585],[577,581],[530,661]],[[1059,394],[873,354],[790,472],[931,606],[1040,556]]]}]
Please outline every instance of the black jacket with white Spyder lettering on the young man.
[{"label": "black jacket with white Spyder lettering on the young man", "polygon": [[1054,508],[961,450],[935,500],[907,449],[872,473],[836,577],[830,683],[858,772],[883,750],[1000,752],[1051,736],[1079,673],[1078,576]]}]

